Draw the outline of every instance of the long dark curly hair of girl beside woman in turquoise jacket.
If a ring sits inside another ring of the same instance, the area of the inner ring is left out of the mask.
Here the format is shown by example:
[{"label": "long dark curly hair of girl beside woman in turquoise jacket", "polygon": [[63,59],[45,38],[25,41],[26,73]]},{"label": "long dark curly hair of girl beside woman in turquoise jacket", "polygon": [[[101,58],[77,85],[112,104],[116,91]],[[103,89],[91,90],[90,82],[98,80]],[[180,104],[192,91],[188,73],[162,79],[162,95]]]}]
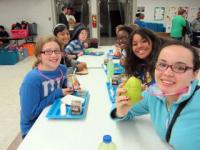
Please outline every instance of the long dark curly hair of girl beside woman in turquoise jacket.
[{"label": "long dark curly hair of girl beside woman in turquoise jacket", "polygon": [[[145,60],[137,57],[132,50],[132,41],[134,35],[136,34],[140,35],[143,39],[147,40],[149,44],[152,43],[152,51]],[[138,77],[141,73],[146,74],[147,72],[149,72],[152,79],[154,79],[153,62],[155,61],[155,55],[159,52],[162,43],[164,43],[164,39],[159,38],[148,29],[138,28],[135,31],[133,31],[130,35],[128,49],[126,50],[126,74],[128,76]]]}]

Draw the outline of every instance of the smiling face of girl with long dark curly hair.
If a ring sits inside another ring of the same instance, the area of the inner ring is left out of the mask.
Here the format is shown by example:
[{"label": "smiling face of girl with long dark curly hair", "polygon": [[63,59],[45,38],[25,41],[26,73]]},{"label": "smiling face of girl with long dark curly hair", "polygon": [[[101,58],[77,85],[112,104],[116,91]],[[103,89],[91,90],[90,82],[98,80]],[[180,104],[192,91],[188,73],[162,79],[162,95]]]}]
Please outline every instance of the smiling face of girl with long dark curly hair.
[{"label": "smiling face of girl with long dark curly hair", "polygon": [[132,38],[132,50],[140,59],[146,59],[152,51],[152,42],[135,34]]}]

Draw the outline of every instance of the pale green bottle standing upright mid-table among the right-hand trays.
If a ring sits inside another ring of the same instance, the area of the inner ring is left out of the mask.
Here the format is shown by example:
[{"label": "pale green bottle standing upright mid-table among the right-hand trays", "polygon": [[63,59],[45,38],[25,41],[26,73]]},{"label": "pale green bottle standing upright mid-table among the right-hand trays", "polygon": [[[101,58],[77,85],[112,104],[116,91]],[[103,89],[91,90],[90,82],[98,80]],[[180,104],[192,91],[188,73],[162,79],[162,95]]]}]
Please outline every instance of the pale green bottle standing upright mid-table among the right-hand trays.
[{"label": "pale green bottle standing upright mid-table among the right-hand trays", "polygon": [[112,82],[112,77],[114,75],[114,63],[112,60],[112,50],[108,53],[108,63],[107,63],[107,79]]}]

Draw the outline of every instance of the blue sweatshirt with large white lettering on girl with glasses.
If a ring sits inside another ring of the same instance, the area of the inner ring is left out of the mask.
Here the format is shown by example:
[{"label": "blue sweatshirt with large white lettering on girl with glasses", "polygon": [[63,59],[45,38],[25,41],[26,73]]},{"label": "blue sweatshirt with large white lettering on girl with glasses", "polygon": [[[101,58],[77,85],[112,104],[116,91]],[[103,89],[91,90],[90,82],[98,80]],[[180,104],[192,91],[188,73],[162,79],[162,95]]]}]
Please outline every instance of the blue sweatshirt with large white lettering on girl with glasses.
[{"label": "blue sweatshirt with large white lettering on girl with glasses", "polygon": [[35,68],[26,75],[19,92],[22,136],[28,133],[45,107],[63,96],[62,87],[66,87],[66,73],[67,68],[59,65],[54,71],[39,71]]}]

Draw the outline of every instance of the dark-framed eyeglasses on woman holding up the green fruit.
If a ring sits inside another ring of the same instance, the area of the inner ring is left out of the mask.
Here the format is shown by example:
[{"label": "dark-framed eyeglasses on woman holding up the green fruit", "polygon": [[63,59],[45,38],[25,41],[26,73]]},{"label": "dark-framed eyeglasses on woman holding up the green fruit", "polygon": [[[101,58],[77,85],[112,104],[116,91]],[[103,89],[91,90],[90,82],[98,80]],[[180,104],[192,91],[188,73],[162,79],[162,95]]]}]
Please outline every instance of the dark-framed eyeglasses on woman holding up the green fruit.
[{"label": "dark-framed eyeglasses on woman holding up the green fruit", "polygon": [[193,67],[187,66],[185,63],[177,62],[173,65],[168,65],[165,62],[157,62],[156,69],[160,71],[165,71],[167,68],[171,68],[171,70],[175,73],[184,73],[189,69],[193,69]]}]

